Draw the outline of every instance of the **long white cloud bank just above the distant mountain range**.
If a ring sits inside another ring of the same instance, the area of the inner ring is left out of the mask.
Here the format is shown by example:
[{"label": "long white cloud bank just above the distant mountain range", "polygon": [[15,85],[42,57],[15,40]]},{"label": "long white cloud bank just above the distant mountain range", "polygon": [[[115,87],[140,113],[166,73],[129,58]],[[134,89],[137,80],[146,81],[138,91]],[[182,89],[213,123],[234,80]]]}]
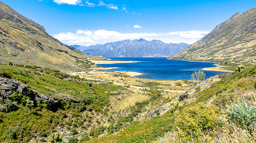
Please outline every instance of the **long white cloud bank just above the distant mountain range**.
[{"label": "long white cloud bank just above the distant mountain range", "polygon": [[192,44],[203,38],[204,35],[209,33],[209,30],[192,30],[185,32],[170,32],[170,33],[119,33],[116,31],[108,30],[77,30],[76,33],[59,33],[54,35],[59,41],[68,45],[95,45],[98,43],[104,44],[107,42],[122,41],[125,39],[140,39],[147,40],[161,40],[165,43],[189,43]]}]

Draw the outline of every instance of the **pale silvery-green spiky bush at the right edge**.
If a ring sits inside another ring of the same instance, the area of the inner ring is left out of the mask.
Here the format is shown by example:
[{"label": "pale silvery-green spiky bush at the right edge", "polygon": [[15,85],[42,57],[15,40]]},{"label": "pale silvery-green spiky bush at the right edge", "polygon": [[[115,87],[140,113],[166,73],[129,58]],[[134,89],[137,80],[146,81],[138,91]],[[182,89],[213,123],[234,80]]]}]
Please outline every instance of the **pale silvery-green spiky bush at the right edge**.
[{"label": "pale silvery-green spiky bush at the right edge", "polygon": [[240,126],[249,127],[256,121],[256,107],[247,105],[243,100],[239,104],[228,105],[224,113],[231,122],[238,123]]}]

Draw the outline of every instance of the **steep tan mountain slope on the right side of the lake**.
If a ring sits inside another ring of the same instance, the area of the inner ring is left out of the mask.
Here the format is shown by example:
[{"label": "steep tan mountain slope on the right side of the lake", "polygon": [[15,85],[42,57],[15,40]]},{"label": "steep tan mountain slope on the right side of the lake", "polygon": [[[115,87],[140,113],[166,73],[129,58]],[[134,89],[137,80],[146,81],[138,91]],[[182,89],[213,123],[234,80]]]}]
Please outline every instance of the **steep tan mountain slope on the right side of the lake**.
[{"label": "steep tan mountain slope on the right side of the lake", "polygon": [[212,32],[168,59],[192,61],[226,60],[252,63],[256,60],[256,7],[236,13]]}]

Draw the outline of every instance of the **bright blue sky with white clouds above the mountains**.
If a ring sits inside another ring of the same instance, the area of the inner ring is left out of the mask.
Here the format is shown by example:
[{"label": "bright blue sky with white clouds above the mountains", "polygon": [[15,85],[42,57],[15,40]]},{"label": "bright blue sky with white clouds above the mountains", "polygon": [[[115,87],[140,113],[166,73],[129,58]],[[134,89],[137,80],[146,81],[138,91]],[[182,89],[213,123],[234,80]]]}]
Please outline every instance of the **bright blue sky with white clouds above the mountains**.
[{"label": "bright blue sky with white clouds above the mountains", "polygon": [[1,0],[67,45],[125,39],[198,41],[255,0]]}]

